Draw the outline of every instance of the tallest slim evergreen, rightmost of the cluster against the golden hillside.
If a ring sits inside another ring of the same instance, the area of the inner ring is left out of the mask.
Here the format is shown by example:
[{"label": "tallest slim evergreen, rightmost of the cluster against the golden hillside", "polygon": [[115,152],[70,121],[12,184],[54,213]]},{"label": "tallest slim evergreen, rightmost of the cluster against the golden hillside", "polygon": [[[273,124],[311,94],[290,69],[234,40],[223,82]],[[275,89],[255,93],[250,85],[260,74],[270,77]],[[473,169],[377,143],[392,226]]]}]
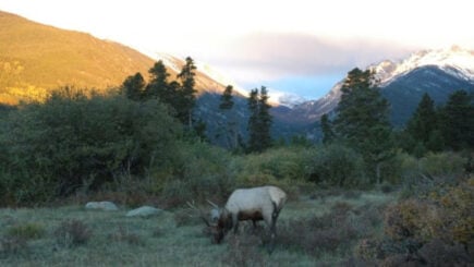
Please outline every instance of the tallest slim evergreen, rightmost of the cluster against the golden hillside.
[{"label": "tallest slim evergreen, rightmost of the cluster against the golden hillside", "polygon": [[180,101],[177,106],[178,118],[185,124],[187,123],[190,129],[193,126],[193,109],[196,104],[196,89],[194,86],[196,84],[194,76],[196,66],[191,57],[186,58],[186,63],[183,69],[178,74],[178,78],[181,81],[180,88]]}]

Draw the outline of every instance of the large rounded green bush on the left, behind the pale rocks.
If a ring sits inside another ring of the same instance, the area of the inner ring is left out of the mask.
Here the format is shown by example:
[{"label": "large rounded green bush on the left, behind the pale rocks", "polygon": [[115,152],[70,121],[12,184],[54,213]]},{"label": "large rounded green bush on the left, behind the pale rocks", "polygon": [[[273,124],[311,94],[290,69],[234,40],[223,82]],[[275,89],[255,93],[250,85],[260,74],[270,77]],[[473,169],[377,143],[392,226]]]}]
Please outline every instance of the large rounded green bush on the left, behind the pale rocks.
[{"label": "large rounded green bush on the left, behind the pale rocks", "polygon": [[[179,123],[155,100],[92,95],[64,88],[45,104],[11,111],[0,130],[8,185],[16,202],[48,201],[122,173],[169,165]],[[3,180],[3,179],[2,179]]]}]

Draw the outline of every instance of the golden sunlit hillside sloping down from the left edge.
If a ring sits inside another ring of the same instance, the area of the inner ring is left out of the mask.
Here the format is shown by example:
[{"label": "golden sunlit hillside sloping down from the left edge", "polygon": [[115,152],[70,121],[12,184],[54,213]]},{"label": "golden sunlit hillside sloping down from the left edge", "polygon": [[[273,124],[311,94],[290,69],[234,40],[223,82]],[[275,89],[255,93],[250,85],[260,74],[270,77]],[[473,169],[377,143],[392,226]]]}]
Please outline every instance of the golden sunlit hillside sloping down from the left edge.
[{"label": "golden sunlit hillside sloping down from the left edge", "polygon": [[[121,44],[1,11],[0,39],[0,102],[7,104],[41,99],[64,85],[107,89],[136,72],[147,77],[155,62]],[[167,59],[163,62],[170,77],[175,78],[184,61],[170,56]],[[197,73],[196,87],[199,94],[224,88],[202,72]]]}]

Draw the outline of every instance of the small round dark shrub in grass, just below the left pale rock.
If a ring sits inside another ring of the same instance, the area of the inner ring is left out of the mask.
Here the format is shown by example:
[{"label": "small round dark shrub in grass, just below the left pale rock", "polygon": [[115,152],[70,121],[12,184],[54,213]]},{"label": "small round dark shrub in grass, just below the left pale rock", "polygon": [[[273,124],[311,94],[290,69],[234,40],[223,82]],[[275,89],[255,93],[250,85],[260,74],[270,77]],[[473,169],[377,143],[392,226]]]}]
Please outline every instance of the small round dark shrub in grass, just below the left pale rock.
[{"label": "small round dark shrub in grass, just below the left pale rock", "polygon": [[92,231],[80,220],[65,220],[54,231],[59,245],[71,247],[85,244],[92,236]]}]

